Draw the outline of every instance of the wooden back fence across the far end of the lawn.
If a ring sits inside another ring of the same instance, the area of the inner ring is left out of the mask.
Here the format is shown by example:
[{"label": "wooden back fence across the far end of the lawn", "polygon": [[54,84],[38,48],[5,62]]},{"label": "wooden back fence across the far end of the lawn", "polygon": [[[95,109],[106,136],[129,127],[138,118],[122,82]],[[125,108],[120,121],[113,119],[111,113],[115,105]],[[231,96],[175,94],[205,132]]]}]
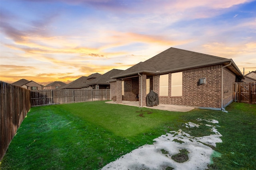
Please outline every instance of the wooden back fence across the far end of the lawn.
[{"label": "wooden back fence across the far end of the lawn", "polygon": [[62,89],[31,91],[31,106],[110,100],[110,89]]}]

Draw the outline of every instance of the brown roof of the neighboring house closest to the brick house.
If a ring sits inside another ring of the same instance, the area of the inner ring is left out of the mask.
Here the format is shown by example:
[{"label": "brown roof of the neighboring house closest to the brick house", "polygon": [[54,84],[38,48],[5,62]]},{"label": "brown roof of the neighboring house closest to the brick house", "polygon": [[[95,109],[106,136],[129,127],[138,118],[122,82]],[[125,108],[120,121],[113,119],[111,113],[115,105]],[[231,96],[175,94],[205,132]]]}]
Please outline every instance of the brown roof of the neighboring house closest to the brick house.
[{"label": "brown roof of the neighboring house closest to the brick house", "polygon": [[[102,74],[98,78],[95,78],[94,80],[92,80],[89,84],[87,84],[87,86],[94,85],[94,84],[110,84],[109,81],[116,80],[111,77],[116,74],[120,74],[121,72],[124,72],[124,70],[112,69],[106,72],[105,74]],[[84,87],[87,87],[87,86],[84,86]]]}]

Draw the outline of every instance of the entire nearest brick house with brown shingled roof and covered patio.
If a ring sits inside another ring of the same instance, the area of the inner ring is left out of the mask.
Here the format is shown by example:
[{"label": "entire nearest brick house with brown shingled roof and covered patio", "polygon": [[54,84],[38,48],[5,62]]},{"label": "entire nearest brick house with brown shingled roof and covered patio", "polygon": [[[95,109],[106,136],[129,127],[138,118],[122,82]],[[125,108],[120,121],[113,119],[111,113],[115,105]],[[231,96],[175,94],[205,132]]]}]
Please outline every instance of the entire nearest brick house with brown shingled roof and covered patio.
[{"label": "entire nearest brick house with brown shingled roof and covered patio", "polygon": [[233,83],[244,76],[232,59],[170,48],[112,78],[112,98],[119,104],[139,98],[139,106],[146,106],[153,90],[160,104],[223,110],[233,101]]}]

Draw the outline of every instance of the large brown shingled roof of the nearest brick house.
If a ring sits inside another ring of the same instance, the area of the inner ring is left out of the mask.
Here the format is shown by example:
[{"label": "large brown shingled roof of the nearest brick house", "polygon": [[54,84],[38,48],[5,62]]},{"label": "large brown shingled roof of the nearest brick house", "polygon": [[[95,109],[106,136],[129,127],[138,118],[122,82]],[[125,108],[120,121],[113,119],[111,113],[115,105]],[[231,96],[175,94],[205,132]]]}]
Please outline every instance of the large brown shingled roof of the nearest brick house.
[{"label": "large brown shingled roof of the nearest brick house", "polygon": [[130,76],[138,74],[139,72],[146,72],[148,74],[165,74],[168,72],[177,72],[181,70],[198,68],[202,66],[210,66],[215,64],[229,64],[232,62],[232,66],[229,68],[242,79],[244,79],[242,73],[232,59],[225,59],[213,55],[207,55],[202,53],[196,53],[193,51],[187,51],[177,48],[169,48],[162,53],[144,61],[140,62],[121,74],[115,75],[111,78],[119,78],[124,76]]}]

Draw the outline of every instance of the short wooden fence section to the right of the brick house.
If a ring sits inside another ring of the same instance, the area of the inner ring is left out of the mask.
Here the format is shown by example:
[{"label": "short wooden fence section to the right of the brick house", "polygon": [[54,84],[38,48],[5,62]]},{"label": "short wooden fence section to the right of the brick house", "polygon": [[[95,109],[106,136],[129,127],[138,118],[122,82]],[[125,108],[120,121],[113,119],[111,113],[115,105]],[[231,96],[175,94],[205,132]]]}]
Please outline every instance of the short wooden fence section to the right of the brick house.
[{"label": "short wooden fence section to the right of the brick house", "polygon": [[233,100],[235,102],[256,104],[256,82],[234,83],[233,84]]}]

